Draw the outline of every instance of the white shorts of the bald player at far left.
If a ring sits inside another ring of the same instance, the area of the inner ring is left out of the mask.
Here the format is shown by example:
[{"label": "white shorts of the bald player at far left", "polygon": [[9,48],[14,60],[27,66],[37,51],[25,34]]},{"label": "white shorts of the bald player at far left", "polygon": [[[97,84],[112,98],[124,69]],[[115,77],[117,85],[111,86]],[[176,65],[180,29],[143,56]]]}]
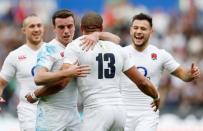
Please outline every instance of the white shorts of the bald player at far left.
[{"label": "white shorts of the bald player at far left", "polygon": [[35,131],[37,105],[19,103],[17,107],[18,120],[21,131]]}]

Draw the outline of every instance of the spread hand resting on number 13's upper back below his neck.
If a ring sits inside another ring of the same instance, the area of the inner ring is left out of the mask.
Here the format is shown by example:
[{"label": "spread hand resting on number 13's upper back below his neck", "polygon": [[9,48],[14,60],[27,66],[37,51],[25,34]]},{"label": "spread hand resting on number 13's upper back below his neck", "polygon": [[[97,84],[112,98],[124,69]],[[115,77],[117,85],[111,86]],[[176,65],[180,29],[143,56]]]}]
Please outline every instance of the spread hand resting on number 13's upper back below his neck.
[{"label": "spread hand resting on number 13's upper back below his neck", "polygon": [[84,35],[80,41],[81,41],[81,48],[82,50],[90,50],[90,49],[94,49],[95,45],[97,44],[99,40],[99,34],[98,32],[94,32],[92,34],[89,34],[89,35]]}]

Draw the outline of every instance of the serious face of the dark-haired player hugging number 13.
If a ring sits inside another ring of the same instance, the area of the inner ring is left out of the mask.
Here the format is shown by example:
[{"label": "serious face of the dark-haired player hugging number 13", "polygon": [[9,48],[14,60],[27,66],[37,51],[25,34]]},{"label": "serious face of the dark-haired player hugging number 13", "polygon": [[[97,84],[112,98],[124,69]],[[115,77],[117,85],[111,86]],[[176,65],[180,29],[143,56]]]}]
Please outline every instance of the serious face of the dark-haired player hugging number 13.
[{"label": "serious face of the dark-haired player hugging number 13", "polygon": [[57,40],[64,46],[70,43],[75,34],[75,23],[73,17],[56,18],[54,32]]}]

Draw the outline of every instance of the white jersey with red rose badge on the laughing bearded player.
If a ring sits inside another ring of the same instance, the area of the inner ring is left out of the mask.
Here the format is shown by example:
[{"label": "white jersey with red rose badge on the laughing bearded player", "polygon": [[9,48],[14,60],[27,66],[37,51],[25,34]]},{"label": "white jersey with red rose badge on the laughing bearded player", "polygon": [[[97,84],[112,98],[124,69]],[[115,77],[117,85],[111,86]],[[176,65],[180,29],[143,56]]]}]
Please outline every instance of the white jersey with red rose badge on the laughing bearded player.
[{"label": "white jersey with red rose badge on the laughing bearded player", "polygon": [[[163,49],[158,49],[153,45],[148,45],[142,52],[134,49],[133,45],[124,47],[124,50],[130,55],[138,71],[148,78],[156,87],[159,86],[164,69],[171,73],[179,66],[168,52]],[[150,106],[152,102],[151,97],[142,93],[125,75],[122,75],[120,82],[122,96],[127,109],[134,111],[152,110]]]}]

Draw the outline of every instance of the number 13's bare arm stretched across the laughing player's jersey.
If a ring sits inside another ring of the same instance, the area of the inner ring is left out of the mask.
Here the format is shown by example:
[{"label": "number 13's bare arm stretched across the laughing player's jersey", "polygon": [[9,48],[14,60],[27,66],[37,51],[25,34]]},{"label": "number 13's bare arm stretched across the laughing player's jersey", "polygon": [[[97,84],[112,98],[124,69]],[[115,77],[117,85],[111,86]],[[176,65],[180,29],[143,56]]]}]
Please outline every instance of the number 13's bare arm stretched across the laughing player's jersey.
[{"label": "number 13's bare arm stretched across the laughing player's jersey", "polygon": [[153,98],[152,107],[156,107],[155,111],[159,108],[160,104],[160,96],[158,90],[155,88],[155,86],[147,79],[145,78],[135,66],[128,69],[124,72],[125,75],[127,75],[136,85],[137,87],[146,95]]}]

